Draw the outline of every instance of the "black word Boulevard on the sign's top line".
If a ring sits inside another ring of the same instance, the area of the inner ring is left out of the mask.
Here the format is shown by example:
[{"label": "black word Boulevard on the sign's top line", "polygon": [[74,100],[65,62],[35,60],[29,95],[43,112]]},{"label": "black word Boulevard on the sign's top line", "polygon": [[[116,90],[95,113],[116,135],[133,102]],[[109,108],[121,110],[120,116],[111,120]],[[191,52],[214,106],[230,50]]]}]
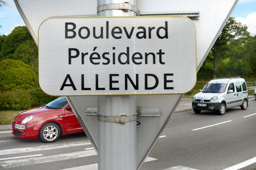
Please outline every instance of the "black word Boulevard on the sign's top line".
[{"label": "black word Boulevard on the sign's top line", "polygon": [[[97,31],[96,31],[97,29]],[[94,37],[94,39],[109,39],[109,36],[112,36],[114,39],[122,39],[122,37],[127,37],[127,39],[130,39],[133,36],[135,27],[131,27],[130,30],[127,30],[126,27],[113,27],[111,30],[109,30],[109,22],[106,22],[106,27],[104,30],[104,27],[96,28],[93,27],[92,30],[88,27],[80,27],[77,31],[76,24],[75,23],[65,23],[65,39],[73,39],[77,36],[81,39],[88,39],[91,36]],[[100,31],[99,31],[100,30]],[[96,35],[96,32],[98,35]],[[105,34],[104,34],[105,32]],[[161,33],[160,33],[161,32]],[[163,35],[164,32],[164,35]],[[168,22],[166,21],[164,23],[164,27],[137,27],[137,33],[136,37],[137,39],[151,39],[152,33],[156,34],[156,36],[159,39],[168,39]]]}]

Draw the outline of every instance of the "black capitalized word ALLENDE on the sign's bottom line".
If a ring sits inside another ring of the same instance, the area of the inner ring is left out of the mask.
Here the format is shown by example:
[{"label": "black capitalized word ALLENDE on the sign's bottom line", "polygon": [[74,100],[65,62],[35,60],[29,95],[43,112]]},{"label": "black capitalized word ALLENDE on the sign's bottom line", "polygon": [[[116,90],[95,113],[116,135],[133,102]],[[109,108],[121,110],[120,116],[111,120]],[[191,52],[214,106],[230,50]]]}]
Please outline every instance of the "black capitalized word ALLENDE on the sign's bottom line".
[{"label": "black capitalized word ALLENDE on the sign's bottom line", "polygon": [[[170,74],[164,74],[163,76],[163,82],[164,82],[164,90],[173,90],[174,87],[170,87],[170,83],[173,82],[173,80],[170,80],[170,76],[173,76],[174,74],[170,73]],[[118,83],[119,80],[117,80],[119,77],[119,74],[109,74],[109,87],[99,87],[98,86],[98,82],[99,82],[99,78],[98,78],[98,74],[95,75],[95,87],[85,87],[85,78],[84,78],[84,74],[81,75],[81,90],[87,90],[90,91],[92,90],[119,90],[118,87]],[[148,78],[151,77],[155,79],[155,84],[154,86],[148,87]],[[162,81],[162,79],[160,79]],[[68,83],[69,82],[69,83]],[[75,82],[77,84],[77,82]],[[67,74],[67,76],[65,77],[65,80],[60,88],[60,90],[64,90],[65,88],[70,88],[72,87],[73,90],[77,90],[75,83],[73,82],[71,76],[69,74]],[[143,83],[143,82],[142,82]],[[156,87],[158,87],[159,84],[159,78],[158,76],[156,76],[155,74],[144,74],[144,90],[153,90]],[[129,87],[128,87],[129,86]],[[133,87],[131,87],[133,86]],[[140,86],[141,87],[141,86]],[[125,90],[130,90],[130,88],[134,88],[134,90],[139,90],[139,74],[136,74],[136,80],[135,82],[133,82],[133,80],[130,78],[129,74],[125,74]]]}]

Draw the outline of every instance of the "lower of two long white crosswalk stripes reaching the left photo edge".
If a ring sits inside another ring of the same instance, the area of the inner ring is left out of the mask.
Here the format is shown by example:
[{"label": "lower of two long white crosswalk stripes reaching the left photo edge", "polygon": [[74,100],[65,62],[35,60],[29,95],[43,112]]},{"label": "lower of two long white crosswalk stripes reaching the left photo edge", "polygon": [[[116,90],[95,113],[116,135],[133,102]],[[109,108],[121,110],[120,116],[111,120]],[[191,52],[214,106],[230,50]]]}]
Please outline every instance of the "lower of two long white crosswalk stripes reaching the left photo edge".
[{"label": "lower of two long white crosswalk stripes reaching the left photo edge", "polygon": [[34,164],[57,162],[60,160],[69,160],[69,159],[82,158],[82,157],[93,156],[93,155],[97,155],[96,151],[88,150],[88,151],[71,152],[67,154],[41,156],[41,157],[28,158],[28,159],[6,160],[3,162],[0,162],[0,165],[3,168],[14,168],[14,167],[22,167],[25,165],[27,166],[27,165],[34,165]]}]

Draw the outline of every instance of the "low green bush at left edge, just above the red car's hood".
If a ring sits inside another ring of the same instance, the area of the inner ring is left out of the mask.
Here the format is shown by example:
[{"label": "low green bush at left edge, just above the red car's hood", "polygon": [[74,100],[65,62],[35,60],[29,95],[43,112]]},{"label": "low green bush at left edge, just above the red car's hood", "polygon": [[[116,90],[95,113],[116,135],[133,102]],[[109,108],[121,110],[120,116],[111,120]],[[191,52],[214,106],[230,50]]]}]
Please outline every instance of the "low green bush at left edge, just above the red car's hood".
[{"label": "low green bush at left edge, just above the red car's hood", "polygon": [[22,110],[31,107],[31,95],[25,90],[0,91],[0,110]]}]

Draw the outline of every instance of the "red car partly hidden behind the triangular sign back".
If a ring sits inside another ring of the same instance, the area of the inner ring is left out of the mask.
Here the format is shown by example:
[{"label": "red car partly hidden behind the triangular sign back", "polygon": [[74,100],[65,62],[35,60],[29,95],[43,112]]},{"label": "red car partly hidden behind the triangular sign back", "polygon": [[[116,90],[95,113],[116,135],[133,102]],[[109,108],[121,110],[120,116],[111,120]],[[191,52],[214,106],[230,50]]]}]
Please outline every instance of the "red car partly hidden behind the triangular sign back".
[{"label": "red car partly hidden behind the triangular sign back", "polygon": [[12,133],[18,138],[55,142],[60,135],[83,132],[65,97],[22,111],[13,120]]}]

